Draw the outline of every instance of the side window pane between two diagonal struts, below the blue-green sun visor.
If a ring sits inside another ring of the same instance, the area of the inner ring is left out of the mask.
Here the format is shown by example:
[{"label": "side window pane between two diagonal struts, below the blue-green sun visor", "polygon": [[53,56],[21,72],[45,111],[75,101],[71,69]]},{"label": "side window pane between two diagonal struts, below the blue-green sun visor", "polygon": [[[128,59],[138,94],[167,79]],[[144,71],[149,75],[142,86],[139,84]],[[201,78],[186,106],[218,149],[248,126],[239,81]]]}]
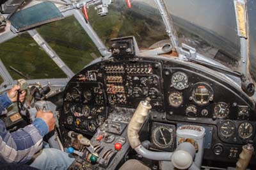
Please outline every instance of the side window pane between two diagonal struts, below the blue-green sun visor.
[{"label": "side window pane between two diagonal struts, below the blue-green sun visor", "polygon": [[97,47],[73,16],[36,30],[74,73],[100,56]]}]

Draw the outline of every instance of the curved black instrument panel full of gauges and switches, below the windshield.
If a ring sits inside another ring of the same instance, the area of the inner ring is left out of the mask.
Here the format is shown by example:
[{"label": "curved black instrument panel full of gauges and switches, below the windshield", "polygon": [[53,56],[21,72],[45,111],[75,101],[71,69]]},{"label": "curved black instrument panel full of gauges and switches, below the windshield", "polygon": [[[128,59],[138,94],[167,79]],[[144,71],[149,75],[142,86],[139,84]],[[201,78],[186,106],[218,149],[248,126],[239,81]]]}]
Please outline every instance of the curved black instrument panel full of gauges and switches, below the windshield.
[{"label": "curved black instrument panel full of gauges and switches, below the windshield", "polygon": [[65,89],[61,123],[92,135],[109,108],[136,108],[146,97],[152,98],[153,149],[173,150],[172,140],[157,139],[160,130],[175,138],[177,123],[211,126],[205,158],[223,160],[230,153],[226,147],[240,150],[246,141],[256,141],[255,106],[241,89],[206,68],[159,58],[111,58],[84,68]]}]

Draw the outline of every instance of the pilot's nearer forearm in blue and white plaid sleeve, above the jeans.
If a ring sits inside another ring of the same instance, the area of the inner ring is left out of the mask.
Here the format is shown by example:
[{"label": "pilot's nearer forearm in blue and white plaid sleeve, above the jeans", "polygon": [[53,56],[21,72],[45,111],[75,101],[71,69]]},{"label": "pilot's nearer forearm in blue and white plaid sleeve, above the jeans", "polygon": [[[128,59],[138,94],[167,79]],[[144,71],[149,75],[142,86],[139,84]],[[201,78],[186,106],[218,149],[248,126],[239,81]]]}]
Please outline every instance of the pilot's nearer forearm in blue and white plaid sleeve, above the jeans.
[{"label": "pilot's nearer forearm in blue and white plaid sleeve, above the jeans", "polygon": [[6,162],[25,163],[42,149],[42,140],[48,132],[47,124],[36,118],[32,125],[8,132],[0,120],[0,157]]}]

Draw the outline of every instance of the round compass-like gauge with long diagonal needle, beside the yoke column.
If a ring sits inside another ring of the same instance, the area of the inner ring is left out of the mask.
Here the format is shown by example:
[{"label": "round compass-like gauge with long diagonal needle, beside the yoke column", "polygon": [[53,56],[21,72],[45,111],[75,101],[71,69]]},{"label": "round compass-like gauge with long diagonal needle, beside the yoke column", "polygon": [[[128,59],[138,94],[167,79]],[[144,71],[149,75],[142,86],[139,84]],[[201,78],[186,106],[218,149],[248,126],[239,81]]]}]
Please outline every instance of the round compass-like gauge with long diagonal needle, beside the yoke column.
[{"label": "round compass-like gauge with long diagonal needle, beside the yoke column", "polygon": [[174,142],[173,130],[163,125],[156,127],[152,131],[152,139],[159,148],[168,148]]}]

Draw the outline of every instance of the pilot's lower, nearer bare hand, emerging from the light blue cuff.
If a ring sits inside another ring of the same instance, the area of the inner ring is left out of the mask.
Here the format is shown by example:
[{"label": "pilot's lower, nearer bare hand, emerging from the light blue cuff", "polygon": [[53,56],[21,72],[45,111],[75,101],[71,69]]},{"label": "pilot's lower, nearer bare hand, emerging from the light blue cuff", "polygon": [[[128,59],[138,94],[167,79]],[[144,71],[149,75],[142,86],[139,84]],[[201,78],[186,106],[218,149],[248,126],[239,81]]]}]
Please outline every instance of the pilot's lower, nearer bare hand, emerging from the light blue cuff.
[{"label": "pilot's lower, nearer bare hand, emerging from the light blue cuff", "polygon": [[42,120],[45,121],[45,123],[48,125],[48,132],[51,132],[52,130],[54,130],[55,119],[51,111],[47,111],[47,112],[38,111],[36,112],[36,118],[41,118]]}]

